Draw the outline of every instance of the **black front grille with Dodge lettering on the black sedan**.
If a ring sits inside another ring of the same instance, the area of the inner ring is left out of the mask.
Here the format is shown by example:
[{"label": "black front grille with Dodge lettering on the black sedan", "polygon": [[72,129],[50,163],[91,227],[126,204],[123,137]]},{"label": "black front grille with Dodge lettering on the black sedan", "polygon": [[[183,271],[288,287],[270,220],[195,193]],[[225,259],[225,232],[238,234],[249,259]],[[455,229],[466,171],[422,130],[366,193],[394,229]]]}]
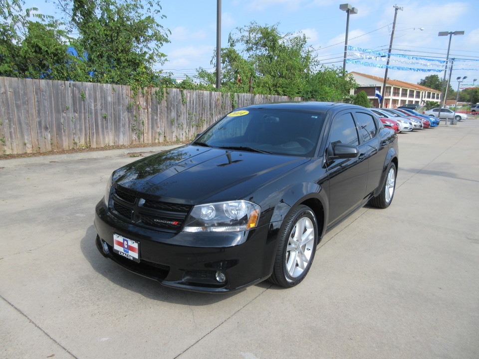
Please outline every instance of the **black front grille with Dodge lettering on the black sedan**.
[{"label": "black front grille with Dodge lettering on the black sedan", "polygon": [[179,232],[193,206],[144,199],[123,189],[112,191],[112,213],[129,223],[147,228]]}]

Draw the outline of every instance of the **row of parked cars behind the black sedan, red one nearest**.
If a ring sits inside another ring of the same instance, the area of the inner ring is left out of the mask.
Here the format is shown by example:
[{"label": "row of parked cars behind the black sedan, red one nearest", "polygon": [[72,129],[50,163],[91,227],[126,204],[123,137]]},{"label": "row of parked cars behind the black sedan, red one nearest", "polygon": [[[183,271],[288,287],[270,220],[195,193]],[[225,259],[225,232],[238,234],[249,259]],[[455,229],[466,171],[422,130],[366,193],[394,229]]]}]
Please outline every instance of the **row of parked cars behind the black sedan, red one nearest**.
[{"label": "row of parked cars behind the black sedan, red one nearest", "polygon": [[379,116],[385,127],[392,128],[396,133],[427,129],[439,126],[439,119],[421,115],[415,110],[407,108],[379,108],[372,109]]}]

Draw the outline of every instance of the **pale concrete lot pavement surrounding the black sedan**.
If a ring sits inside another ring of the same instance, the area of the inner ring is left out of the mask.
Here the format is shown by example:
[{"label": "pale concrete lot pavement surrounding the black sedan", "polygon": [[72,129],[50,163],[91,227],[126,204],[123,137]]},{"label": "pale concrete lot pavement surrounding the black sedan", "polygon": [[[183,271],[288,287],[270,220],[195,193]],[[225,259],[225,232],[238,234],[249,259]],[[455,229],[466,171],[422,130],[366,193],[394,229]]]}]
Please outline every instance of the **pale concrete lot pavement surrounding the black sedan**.
[{"label": "pale concrete lot pavement surrounding the black sedan", "polygon": [[95,204],[135,158],[0,160],[0,358],[479,358],[479,122],[399,141],[388,209],[328,233],[299,286],[229,295],[97,251]]}]

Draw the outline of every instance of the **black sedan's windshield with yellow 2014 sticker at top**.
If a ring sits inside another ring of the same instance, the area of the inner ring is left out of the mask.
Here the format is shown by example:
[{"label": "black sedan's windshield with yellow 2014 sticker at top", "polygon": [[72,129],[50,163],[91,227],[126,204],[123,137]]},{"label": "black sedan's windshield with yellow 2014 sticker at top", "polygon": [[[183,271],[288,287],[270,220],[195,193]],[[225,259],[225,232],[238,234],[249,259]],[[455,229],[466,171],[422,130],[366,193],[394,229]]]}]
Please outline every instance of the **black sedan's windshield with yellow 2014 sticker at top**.
[{"label": "black sedan's windshield with yellow 2014 sticker at top", "polygon": [[234,111],[193,145],[275,155],[314,155],[325,113],[277,109]]}]

